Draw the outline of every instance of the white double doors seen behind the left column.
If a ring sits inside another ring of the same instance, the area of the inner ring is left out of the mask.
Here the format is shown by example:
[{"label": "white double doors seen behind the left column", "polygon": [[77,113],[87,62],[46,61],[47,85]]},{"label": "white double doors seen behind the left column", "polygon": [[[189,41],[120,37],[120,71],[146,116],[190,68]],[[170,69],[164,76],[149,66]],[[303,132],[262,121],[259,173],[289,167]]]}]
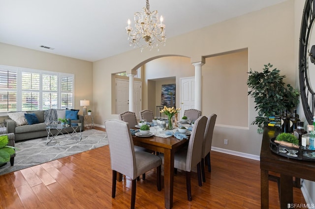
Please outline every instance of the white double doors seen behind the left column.
[{"label": "white double doors seen behind the left column", "polygon": [[[140,81],[134,81],[134,112],[139,118],[141,110],[141,85]],[[116,79],[116,114],[129,111],[129,80]]]}]

